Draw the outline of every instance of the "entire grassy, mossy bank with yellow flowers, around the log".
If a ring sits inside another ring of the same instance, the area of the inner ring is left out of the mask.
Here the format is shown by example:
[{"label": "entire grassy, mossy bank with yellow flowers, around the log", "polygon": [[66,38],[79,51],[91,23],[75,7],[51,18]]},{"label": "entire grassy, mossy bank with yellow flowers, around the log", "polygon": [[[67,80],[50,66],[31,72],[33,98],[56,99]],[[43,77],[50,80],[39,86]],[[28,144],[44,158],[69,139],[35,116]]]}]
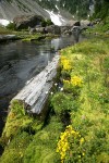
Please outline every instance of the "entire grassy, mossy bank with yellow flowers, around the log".
[{"label": "entire grassy, mossy bank with yellow flowers, around the log", "polygon": [[47,118],[39,122],[15,101],[1,163],[109,162],[109,40],[87,40],[60,54]]}]

